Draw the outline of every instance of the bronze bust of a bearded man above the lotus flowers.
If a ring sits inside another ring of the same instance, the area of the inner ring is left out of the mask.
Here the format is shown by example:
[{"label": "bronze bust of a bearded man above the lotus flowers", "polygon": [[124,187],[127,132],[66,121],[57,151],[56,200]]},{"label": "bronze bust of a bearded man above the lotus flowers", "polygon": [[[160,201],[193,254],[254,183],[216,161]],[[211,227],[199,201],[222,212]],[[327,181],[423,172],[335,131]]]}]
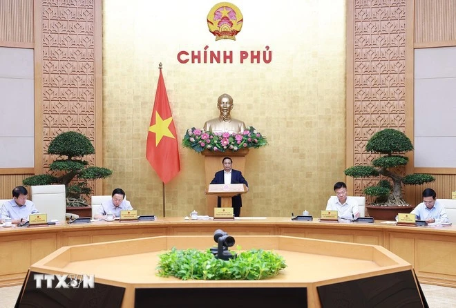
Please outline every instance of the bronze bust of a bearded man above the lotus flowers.
[{"label": "bronze bust of a bearded man above the lotus flowers", "polygon": [[244,122],[231,117],[230,113],[233,106],[233,97],[226,93],[220,95],[217,100],[217,108],[220,110],[220,115],[207,121],[203,129],[213,133],[240,133],[245,131]]}]

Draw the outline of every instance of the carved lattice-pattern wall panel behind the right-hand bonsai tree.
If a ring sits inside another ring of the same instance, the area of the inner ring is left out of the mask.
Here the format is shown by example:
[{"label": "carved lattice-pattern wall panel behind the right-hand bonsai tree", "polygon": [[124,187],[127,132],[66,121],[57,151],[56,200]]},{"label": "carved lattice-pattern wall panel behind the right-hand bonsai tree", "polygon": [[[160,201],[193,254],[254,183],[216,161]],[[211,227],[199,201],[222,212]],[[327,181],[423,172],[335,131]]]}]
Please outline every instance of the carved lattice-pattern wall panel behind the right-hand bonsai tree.
[{"label": "carved lattice-pattern wall panel behind the right-hand bonsai tree", "polygon": [[[406,1],[353,3],[353,160],[370,164],[368,139],[406,129]],[[401,172],[405,172],[405,169]],[[354,194],[376,180],[354,180]]]}]

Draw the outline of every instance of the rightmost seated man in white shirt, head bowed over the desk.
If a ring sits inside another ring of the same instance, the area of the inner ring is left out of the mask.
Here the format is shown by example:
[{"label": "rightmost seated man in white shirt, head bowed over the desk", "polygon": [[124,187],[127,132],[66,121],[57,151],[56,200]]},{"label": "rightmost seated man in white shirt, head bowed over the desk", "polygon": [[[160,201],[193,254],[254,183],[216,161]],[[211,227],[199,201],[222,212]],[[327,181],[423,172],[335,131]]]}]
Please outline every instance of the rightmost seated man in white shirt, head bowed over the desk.
[{"label": "rightmost seated man in white shirt, head bowed over the desk", "polygon": [[418,204],[410,214],[415,214],[417,220],[426,220],[426,222],[450,222],[445,206],[440,204],[439,200],[435,200],[435,197],[434,189],[425,189],[423,202]]}]

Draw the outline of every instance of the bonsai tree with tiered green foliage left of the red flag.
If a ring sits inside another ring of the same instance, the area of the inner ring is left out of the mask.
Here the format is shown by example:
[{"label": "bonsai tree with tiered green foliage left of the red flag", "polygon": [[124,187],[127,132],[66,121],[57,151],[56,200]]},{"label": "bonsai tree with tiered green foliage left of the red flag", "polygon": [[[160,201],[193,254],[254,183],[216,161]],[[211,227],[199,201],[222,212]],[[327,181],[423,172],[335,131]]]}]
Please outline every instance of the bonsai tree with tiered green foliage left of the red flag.
[{"label": "bonsai tree with tiered green foliage left of the red flag", "polygon": [[[57,135],[49,144],[48,154],[59,155],[49,166],[53,174],[32,175],[22,181],[24,185],[50,185],[64,184],[66,188],[67,206],[87,206],[82,195],[89,195],[92,189],[87,185],[87,180],[103,179],[110,176],[113,171],[96,166],[88,166],[84,155],[95,153],[91,141],[85,135],[68,131]],[[66,156],[66,158],[65,158]],[[77,182],[72,181],[77,180]]]}]

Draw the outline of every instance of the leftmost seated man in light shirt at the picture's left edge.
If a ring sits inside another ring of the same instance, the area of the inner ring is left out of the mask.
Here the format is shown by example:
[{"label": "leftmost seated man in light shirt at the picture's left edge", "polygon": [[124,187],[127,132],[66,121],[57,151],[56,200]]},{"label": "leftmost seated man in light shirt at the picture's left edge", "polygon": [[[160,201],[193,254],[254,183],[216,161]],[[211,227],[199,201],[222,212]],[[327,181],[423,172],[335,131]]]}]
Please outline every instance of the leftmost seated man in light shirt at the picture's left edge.
[{"label": "leftmost seated man in light shirt at the picture's left edge", "polygon": [[11,218],[12,224],[28,221],[28,215],[39,213],[35,204],[27,200],[28,191],[24,186],[17,186],[12,190],[12,200],[1,206],[1,219]]}]

